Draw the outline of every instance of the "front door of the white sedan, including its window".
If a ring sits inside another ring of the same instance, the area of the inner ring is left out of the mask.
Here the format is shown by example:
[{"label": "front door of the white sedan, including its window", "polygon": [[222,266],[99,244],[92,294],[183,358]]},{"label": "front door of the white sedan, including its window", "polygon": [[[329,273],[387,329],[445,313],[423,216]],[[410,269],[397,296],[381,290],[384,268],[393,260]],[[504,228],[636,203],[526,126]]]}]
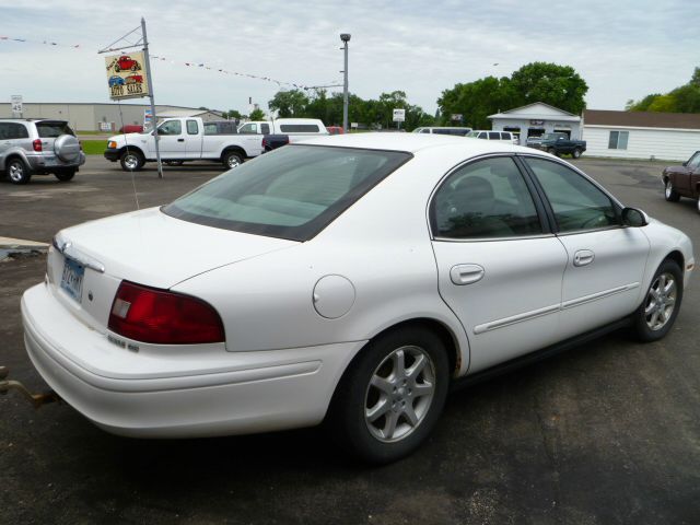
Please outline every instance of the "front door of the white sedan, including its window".
[{"label": "front door of the white sedan, including its window", "polygon": [[650,244],[639,228],[625,228],[621,207],[599,186],[561,162],[526,158],[546,196],[567,250],[561,338],[631,314],[640,304]]}]

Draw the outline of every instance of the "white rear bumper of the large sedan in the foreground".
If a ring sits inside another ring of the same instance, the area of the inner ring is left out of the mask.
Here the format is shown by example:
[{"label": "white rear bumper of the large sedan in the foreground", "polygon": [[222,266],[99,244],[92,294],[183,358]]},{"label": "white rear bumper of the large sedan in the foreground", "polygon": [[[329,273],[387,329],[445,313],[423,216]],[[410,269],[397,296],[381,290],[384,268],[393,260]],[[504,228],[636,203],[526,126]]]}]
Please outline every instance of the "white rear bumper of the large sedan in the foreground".
[{"label": "white rear bumper of the large sedan in the foreground", "polygon": [[49,386],[98,427],[135,438],[243,434],[317,424],[342,372],[364,345],[258,352],[205,349],[201,354],[196,347],[130,352],[80,323],[45,284],[24,293],[22,317],[27,353]]}]

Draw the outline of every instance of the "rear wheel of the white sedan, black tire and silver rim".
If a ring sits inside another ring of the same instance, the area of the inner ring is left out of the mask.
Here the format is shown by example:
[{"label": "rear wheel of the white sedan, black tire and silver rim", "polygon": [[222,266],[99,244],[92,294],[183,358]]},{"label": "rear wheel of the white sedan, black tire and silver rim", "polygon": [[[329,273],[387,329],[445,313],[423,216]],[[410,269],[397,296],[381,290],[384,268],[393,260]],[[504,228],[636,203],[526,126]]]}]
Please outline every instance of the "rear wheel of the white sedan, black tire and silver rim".
[{"label": "rear wheel of the white sedan, black tire and silver rim", "polygon": [[[397,364],[399,352],[402,369]],[[412,376],[411,369],[416,369]],[[413,452],[433,430],[448,382],[447,353],[440,337],[419,327],[387,332],[369,342],[346,371],[327,428],[351,455],[374,464],[395,462]],[[372,408],[377,415],[369,413]]]}]

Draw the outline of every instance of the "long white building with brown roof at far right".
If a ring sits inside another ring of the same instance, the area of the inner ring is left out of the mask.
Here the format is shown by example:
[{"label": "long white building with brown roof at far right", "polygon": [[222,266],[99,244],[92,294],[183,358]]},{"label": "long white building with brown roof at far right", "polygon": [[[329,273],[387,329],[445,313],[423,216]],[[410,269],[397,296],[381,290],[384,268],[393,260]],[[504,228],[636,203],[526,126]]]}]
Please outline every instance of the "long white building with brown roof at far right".
[{"label": "long white building with brown roof at far right", "polygon": [[687,161],[700,150],[700,114],[583,113],[586,156]]}]

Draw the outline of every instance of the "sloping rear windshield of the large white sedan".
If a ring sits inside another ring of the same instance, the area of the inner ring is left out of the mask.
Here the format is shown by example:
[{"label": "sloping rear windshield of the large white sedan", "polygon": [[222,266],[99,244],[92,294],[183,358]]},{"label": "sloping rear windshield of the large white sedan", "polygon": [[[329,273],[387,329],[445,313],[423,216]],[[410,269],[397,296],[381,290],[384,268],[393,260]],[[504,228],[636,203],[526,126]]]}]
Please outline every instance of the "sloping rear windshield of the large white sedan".
[{"label": "sloping rear windshield of the large white sedan", "polygon": [[287,145],[220,175],[162,211],[198,224],[307,241],[411,156]]}]

